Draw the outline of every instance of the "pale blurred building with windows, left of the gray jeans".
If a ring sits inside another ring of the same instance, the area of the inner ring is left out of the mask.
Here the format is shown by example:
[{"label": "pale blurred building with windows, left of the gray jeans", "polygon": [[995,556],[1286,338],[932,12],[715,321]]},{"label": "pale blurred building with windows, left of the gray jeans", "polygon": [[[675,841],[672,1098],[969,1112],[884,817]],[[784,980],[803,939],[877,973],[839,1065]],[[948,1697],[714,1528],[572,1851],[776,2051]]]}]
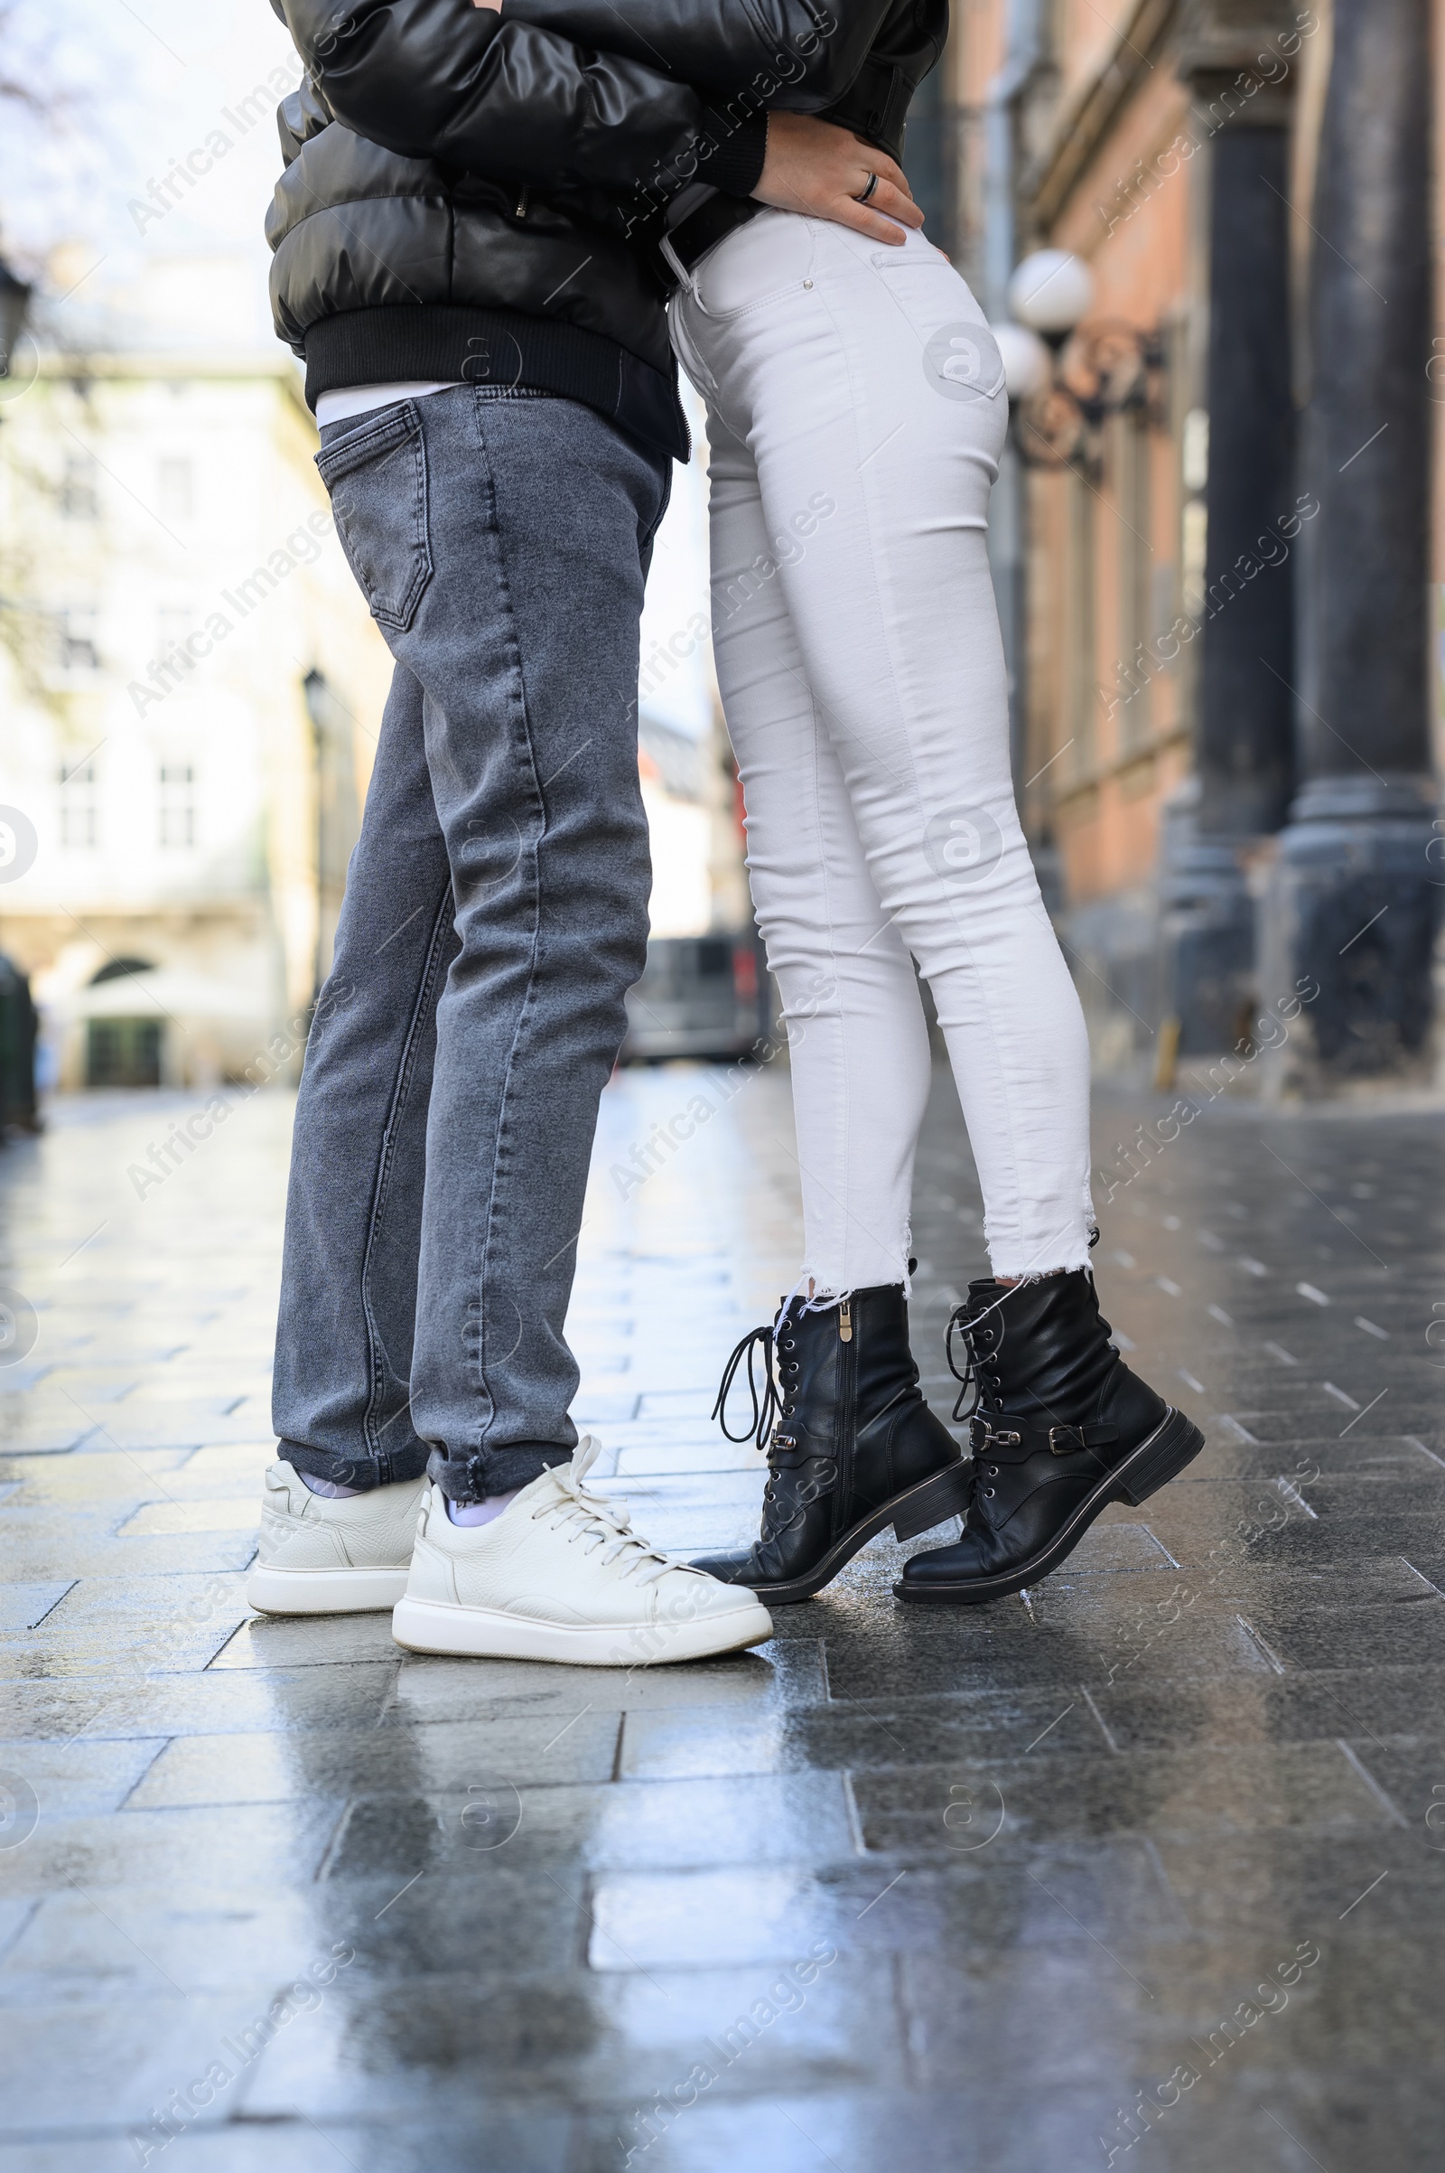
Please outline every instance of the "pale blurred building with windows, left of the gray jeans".
[{"label": "pale blurred building with windows, left of the gray jeans", "polygon": [[0,947],[48,1076],[296,1076],[389,656],[291,359],[41,354],[0,415]]}]

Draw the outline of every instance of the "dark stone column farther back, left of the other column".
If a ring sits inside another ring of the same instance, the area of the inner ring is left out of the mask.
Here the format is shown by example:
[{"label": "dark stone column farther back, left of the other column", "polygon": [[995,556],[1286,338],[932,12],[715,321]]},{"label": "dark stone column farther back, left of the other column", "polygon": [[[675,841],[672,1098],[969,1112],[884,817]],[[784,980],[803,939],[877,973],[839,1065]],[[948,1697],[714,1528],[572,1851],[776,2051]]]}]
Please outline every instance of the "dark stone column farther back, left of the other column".
[{"label": "dark stone column farther back, left of the other column", "polygon": [[[1291,17],[1273,17],[1273,9],[1197,7],[1180,54],[1193,89],[1208,259],[1195,776],[1169,808],[1160,845],[1163,1010],[1178,1019],[1184,1054],[1230,1050],[1247,1030],[1256,997],[1247,865],[1280,828],[1293,789],[1293,70],[1271,56],[1271,33]],[[1265,80],[1260,54],[1278,80]]]}]

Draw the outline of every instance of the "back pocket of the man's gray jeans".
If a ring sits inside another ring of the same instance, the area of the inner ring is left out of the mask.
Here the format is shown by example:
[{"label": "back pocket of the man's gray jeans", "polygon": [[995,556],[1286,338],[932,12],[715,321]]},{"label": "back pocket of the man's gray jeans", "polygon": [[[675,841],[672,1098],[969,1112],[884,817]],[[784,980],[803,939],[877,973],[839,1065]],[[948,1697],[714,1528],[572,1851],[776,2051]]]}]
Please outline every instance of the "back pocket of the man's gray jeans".
[{"label": "back pocket of the man's gray jeans", "polygon": [[315,465],[372,617],[404,635],[432,578],[426,443],[415,400],[382,409],[376,422],[324,445]]}]

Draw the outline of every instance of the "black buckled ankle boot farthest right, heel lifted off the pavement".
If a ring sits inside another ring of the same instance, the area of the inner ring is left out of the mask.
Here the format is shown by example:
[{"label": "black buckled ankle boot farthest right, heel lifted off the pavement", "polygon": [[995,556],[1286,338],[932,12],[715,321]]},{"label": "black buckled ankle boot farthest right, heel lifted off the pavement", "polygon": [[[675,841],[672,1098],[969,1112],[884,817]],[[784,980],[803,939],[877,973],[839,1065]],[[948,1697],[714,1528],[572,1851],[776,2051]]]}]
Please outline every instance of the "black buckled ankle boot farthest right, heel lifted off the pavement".
[{"label": "black buckled ankle boot farthest right, heel lifted off the pavement", "polygon": [[1013,1286],[971,1282],[947,1323],[947,1362],[965,1384],[954,1417],[971,1421],[969,1510],[956,1545],[904,1567],[900,1599],[969,1606],[1036,1584],[1102,1508],[1139,1506],[1204,1447],[1199,1428],[1130,1373],[1082,1267]]}]

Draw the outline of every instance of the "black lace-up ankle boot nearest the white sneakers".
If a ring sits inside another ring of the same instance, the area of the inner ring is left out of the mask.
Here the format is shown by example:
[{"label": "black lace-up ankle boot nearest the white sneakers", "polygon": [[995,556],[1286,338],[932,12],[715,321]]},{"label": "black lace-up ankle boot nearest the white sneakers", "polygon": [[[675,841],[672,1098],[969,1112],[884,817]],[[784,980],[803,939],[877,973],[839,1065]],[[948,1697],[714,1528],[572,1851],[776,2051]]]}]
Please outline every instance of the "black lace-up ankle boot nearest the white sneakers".
[{"label": "black lace-up ankle boot nearest the white sneakers", "polygon": [[900,1538],[915,1538],[965,1506],[969,1465],[919,1391],[900,1284],[852,1291],[813,1312],[793,1297],[776,1328],[743,1336],[713,1406],[728,1441],[747,1441],[730,1432],[726,1415],[743,1358],[750,1432],[767,1447],[763,1534],[747,1554],[711,1554],[698,1569],[787,1606],[821,1591],[884,1523]]}]

